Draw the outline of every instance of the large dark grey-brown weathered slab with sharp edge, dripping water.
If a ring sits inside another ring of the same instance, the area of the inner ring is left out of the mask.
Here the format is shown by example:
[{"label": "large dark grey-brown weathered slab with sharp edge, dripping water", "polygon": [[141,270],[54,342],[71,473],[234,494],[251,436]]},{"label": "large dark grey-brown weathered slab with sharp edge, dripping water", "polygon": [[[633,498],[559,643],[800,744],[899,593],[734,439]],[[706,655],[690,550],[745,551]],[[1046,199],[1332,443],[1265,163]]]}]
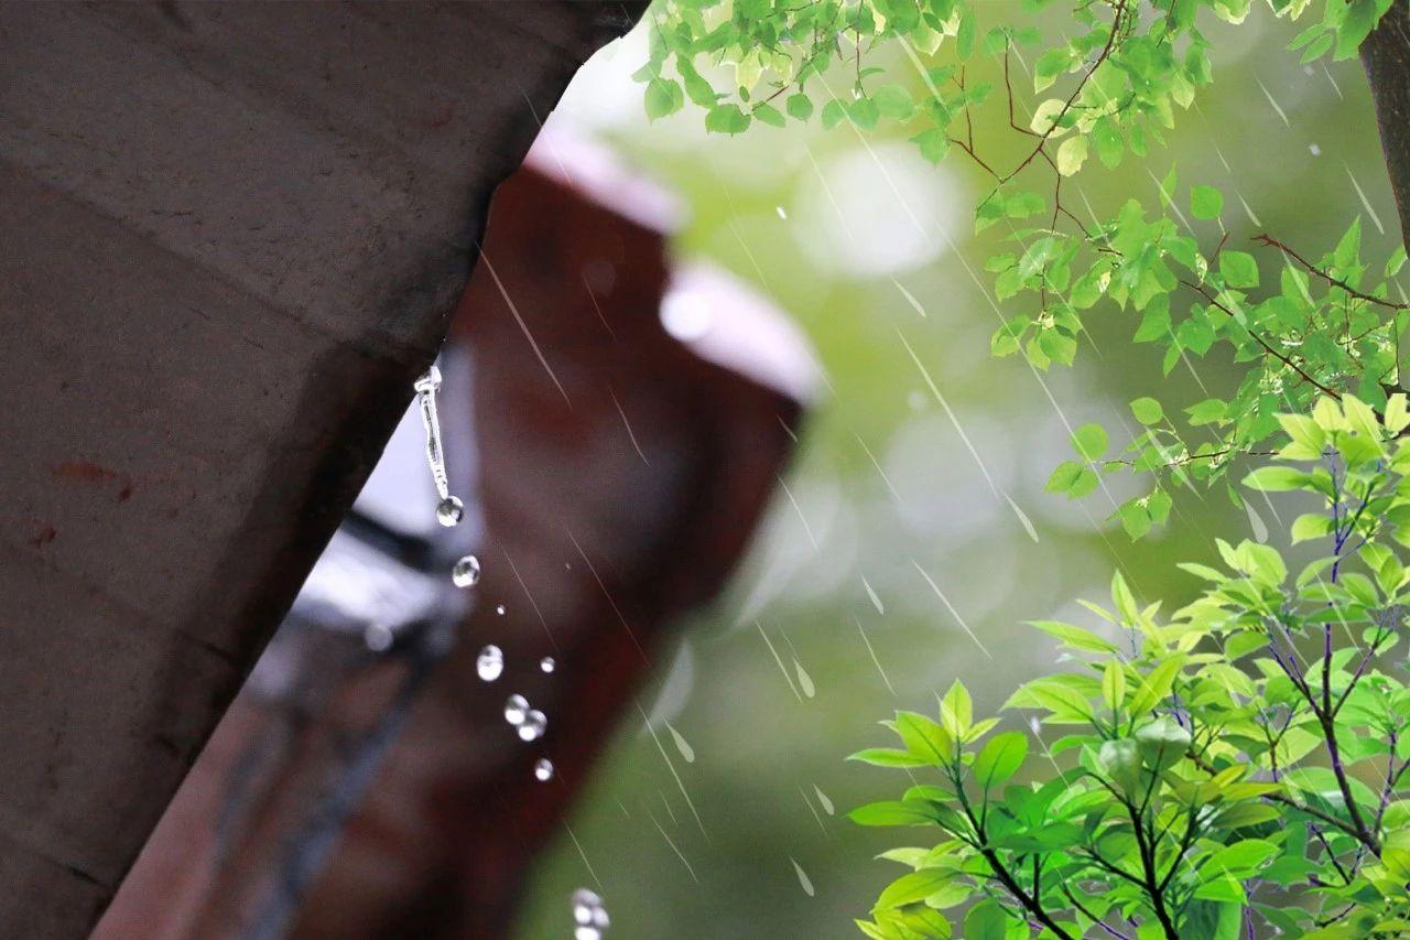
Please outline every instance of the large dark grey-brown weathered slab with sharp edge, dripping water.
[{"label": "large dark grey-brown weathered slab with sharp edge, dripping water", "polygon": [[0,6],[0,936],[97,917],[626,17]]}]

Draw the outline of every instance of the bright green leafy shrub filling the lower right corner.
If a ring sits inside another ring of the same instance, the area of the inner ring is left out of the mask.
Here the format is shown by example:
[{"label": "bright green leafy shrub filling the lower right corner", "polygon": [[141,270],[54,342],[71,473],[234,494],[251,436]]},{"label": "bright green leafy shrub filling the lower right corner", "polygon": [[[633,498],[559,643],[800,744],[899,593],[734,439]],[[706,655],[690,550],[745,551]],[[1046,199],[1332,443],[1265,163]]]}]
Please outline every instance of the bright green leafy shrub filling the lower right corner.
[{"label": "bright green leafy shrub filling the lower right corner", "polygon": [[[1076,669],[1005,707],[1062,728],[1050,747],[991,734],[956,683],[938,721],[887,723],[901,748],[853,755],[919,779],[856,821],[942,833],[885,854],[911,871],[867,936],[948,937],[970,899],[971,940],[1410,933],[1410,686],[1389,656],[1410,611],[1410,412],[1348,395],[1280,421],[1282,463],[1245,483],[1320,501],[1293,524],[1318,558],[1292,574],[1268,545],[1220,541],[1222,569],[1182,566],[1206,587],[1169,620],[1117,574],[1111,608],[1089,604],[1110,632],[1036,622]],[[1015,783],[1025,764],[1045,782]]]}]

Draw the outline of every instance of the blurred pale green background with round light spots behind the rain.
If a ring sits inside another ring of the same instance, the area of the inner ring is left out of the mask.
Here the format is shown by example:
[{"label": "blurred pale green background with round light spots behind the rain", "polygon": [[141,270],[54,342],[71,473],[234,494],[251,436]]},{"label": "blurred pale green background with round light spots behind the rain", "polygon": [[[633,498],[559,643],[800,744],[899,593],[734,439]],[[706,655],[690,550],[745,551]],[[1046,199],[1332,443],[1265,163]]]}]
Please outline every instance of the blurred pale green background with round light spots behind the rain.
[{"label": "blurred pale green background with round light spots behind the rain", "polygon": [[[983,10],[994,24],[1017,7]],[[1146,161],[1128,157],[1114,172],[1089,161],[1065,188],[1079,215],[1090,217],[1083,199],[1097,213],[1131,196],[1153,206],[1156,179],[1175,165],[1182,209],[1191,182],[1224,191],[1232,246],[1269,231],[1318,255],[1361,213],[1369,257],[1383,257],[1399,233],[1359,64],[1299,65],[1285,51],[1296,30],[1263,8],[1208,34],[1213,89]],[[601,52],[551,121],[674,189],[689,213],[677,253],[723,265],[788,311],[826,378],[788,493],[776,495],[723,601],[681,624],[658,656],[656,686],[639,696],[650,727],[623,721],[571,834],[537,872],[519,936],[568,936],[578,886],[606,899],[612,940],[859,936],[852,917],[900,874],[871,857],[908,836],[843,817],[902,789],[895,772],[843,759],[884,742],[880,718],[933,711],[955,677],[993,713],[1019,682],[1058,666],[1052,641],[1022,621],[1096,625],[1074,598],[1101,601],[1114,566],[1139,597],[1172,610],[1194,587],[1173,562],[1207,560],[1215,534],[1277,524],[1259,505],[1265,518],[1252,521],[1221,490],[1186,491],[1172,525],[1132,545],[1101,491],[1081,502],[1043,493],[1070,456],[1067,432],[1032,370],[988,353],[1000,315],[983,261],[1003,231],[973,236],[983,172],[957,151],[931,167],[895,131],[870,135],[870,150],[849,126],[816,123],[706,135],[691,106],[649,124],[629,78],[644,58],[642,30]],[[884,49],[869,64],[919,85]],[[1031,106],[1031,82],[1015,85]],[[981,151],[1011,165],[1019,138],[995,124],[993,106],[984,113]],[[1213,247],[1217,233],[1201,236]],[[1004,318],[1024,309],[1000,308]],[[1189,371],[1165,378],[1155,353],[1131,344],[1132,318],[1098,308],[1089,323],[1076,367],[1042,375],[1072,426],[1100,421],[1122,446],[1135,430],[1129,399],[1206,397]],[[1198,370],[1211,394],[1230,385],[1227,363]],[[1141,486],[1111,490],[1121,500]],[[995,488],[1031,518],[1036,542]]]}]

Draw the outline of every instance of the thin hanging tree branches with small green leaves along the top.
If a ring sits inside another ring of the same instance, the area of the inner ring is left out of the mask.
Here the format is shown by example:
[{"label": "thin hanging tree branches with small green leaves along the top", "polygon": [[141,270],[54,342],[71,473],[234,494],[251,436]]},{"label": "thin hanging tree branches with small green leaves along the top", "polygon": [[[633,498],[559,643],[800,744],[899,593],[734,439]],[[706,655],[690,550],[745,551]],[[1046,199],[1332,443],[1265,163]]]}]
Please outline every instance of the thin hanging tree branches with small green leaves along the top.
[{"label": "thin hanging tree branches with small green leaves along the top", "polygon": [[[1303,61],[1348,58],[1390,3],[1327,0],[1293,47]],[[1269,6],[1299,18],[1310,0]],[[1049,488],[1070,498],[1097,490],[1103,474],[1149,476],[1146,491],[1115,510],[1132,538],[1166,522],[1177,488],[1221,480],[1261,453],[1279,411],[1348,391],[1383,402],[1382,385],[1397,378],[1396,339],[1410,325],[1410,303],[1389,299],[1386,284],[1403,251],[1368,264],[1359,224],[1317,261],[1270,236],[1246,246],[1256,254],[1231,247],[1222,193],[1196,183],[1182,196],[1173,171],[1159,205],[1132,199],[1107,219],[1089,207],[1083,220],[1063,199],[1063,182],[1093,157],[1115,168],[1163,143],[1213,80],[1201,18],[1242,23],[1251,0],[1079,0],[1066,11],[1024,0],[1014,21],[987,30],[984,13],[973,0],[661,0],[636,78],[653,119],[688,100],[725,134],[754,121],[847,123],[857,133],[894,124],[931,161],[950,151],[973,161],[988,179],[976,229],[1001,224],[1012,246],[986,263],[994,301],[1019,306],[993,336],[997,356],[1069,366],[1107,301],[1128,312],[1135,342],[1163,350],[1166,374],[1193,371],[1206,356],[1246,364],[1232,394],[1136,399],[1135,439],[1111,454],[1079,447],[1053,470]],[[887,49],[900,56],[878,55]],[[1018,69],[1038,96],[1032,107]],[[991,112],[1024,141],[1012,165],[976,140],[977,119]]]}]

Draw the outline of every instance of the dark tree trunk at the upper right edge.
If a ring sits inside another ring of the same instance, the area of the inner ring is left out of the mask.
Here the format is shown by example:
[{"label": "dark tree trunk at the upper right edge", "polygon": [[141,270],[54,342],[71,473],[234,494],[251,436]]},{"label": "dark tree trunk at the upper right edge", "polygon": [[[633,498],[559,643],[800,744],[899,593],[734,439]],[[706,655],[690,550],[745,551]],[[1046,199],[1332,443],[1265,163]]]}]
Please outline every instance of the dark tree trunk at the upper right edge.
[{"label": "dark tree trunk at the upper right edge", "polygon": [[1380,124],[1400,237],[1410,240],[1410,0],[1396,0],[1361,47]]}]

